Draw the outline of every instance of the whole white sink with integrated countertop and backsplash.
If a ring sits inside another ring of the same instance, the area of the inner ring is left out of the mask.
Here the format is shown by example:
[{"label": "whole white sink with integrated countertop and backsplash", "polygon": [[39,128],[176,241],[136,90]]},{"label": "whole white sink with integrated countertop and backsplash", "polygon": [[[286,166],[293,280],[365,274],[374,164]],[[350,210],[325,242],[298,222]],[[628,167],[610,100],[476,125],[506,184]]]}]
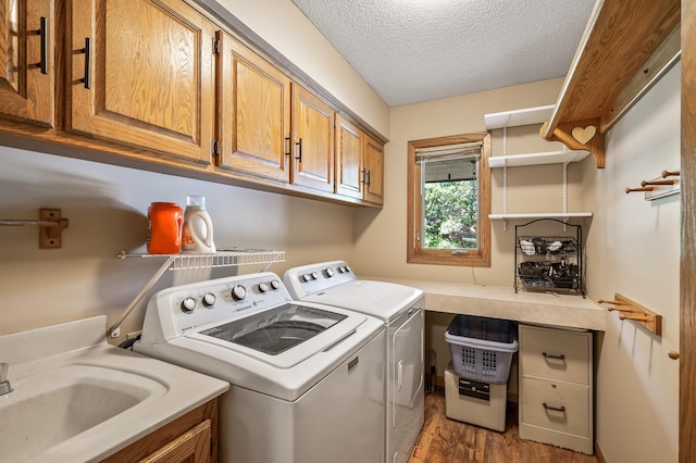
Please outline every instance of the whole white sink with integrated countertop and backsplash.
[{"label": "whole white sink with integrated countertop and backsplash", "polygon": [[99,462],[229,385],[107,342],[98,316],[0,336],[0,463]]}]

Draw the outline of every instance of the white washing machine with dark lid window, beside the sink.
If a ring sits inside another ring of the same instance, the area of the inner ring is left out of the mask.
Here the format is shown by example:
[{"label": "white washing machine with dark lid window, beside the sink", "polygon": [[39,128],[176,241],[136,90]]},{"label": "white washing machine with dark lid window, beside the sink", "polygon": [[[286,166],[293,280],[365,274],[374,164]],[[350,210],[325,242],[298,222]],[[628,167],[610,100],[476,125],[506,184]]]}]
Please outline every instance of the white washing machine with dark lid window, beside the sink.
[{"label": "white washing machine with dark lid window, beside the sink", "polygon": [[384,324],[297,302],[270,272],[164,289],[137,352],[231,383],[220,461],[384,461]]}]

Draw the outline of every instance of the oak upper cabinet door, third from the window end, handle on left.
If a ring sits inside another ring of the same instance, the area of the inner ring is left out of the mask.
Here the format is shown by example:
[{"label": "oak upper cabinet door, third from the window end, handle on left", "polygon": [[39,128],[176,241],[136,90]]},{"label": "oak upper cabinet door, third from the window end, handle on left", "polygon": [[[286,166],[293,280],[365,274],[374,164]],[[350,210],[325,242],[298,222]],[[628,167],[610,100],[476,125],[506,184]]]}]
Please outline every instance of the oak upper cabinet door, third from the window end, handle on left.
[{"label": "oak upper cabinet door, third from the window end, handle on left", "polygon": [[334,111],[293,84],[294,185],[334,191]]}]

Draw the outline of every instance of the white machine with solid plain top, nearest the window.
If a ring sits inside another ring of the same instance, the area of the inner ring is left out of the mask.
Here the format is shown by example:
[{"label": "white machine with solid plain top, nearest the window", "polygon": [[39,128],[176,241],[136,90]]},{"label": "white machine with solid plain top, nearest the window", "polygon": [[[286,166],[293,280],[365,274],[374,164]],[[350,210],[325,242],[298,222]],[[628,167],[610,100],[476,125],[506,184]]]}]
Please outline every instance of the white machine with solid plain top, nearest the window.
[{"label": "white machine with solid plain top, nearest the window", "polygon": [[348,309],[384,323],[385,462],[407,462],[424,416],[423,291],[358,279],[344,261],[290,268],[283,280],[297,300]]}]

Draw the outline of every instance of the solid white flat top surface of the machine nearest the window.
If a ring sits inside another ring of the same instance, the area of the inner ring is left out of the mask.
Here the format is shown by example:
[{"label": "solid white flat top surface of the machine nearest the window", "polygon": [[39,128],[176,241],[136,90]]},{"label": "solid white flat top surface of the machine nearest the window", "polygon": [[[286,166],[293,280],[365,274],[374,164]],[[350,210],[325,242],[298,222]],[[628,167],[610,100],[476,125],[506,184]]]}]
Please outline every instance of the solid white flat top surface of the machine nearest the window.
[{"label": "solid white flat top surface of the machine nearest the window", "polygon": [[357,279],[309,295],[302,301],[344,308],[389,323],[422,296],[423,291],[409,286]]}]

